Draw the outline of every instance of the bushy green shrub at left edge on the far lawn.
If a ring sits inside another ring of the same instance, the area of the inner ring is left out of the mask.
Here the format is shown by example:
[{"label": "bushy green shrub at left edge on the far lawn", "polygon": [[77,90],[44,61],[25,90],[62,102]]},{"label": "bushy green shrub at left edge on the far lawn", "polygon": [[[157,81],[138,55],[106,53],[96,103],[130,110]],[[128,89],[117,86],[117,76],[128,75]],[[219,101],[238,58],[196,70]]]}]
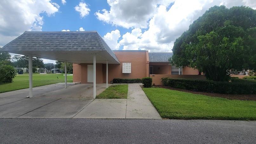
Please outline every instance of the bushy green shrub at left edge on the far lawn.
[{"label": "bushy green shrub at left edge on the far lawn", "polygon": [[16,75],[17,71],[13,66],[0,64],[0,84],[12,82]]}]

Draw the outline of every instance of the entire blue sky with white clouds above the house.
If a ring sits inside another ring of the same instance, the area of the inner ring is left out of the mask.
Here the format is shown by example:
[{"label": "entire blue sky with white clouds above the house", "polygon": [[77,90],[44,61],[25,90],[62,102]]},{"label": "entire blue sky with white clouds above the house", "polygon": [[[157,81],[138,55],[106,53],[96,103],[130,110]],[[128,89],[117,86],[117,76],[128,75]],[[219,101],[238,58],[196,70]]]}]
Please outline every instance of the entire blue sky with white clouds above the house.
[{"label": "entire blue sky with white clouds above the house", "polygon": [[0,47],[24,31],[96,30],[113,50],[172,52],[214,5],[256,9],[255,0],[1,0]]}]

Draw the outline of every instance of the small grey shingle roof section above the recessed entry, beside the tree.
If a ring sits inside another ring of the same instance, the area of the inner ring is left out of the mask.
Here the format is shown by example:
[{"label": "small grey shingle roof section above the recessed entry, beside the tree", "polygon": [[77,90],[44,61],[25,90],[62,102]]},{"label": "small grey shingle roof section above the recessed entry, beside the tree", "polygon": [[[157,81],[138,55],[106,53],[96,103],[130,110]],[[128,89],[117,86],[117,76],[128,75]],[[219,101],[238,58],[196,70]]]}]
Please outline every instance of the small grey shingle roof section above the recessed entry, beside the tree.
[{"label": "small grey shingle roof section above the recessed entry, beside the tree", "polygon": [[173,56],[171,52],[148,53],[149,62],[169,62],[168,59]]}]

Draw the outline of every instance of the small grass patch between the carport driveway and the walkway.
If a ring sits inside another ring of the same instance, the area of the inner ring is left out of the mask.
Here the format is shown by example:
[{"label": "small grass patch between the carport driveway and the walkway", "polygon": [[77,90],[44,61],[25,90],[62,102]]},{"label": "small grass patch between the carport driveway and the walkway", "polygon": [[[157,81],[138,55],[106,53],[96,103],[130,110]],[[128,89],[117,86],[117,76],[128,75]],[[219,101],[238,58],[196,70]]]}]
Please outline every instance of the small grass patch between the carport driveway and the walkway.
[{"label": "small grass patch between the carport driveway and the walkway", "polygon": [[128,84],[112,85],[106,88],[97,99],[127,99]]}]

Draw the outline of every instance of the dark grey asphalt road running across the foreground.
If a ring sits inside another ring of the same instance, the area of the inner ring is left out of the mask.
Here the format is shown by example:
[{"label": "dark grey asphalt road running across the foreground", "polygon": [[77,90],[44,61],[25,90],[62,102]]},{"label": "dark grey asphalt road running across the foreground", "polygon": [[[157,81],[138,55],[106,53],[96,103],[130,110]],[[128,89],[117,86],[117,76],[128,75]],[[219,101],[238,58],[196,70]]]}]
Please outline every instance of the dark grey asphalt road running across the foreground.
[{"label": "dark grey asphalt road running across the foreground", "polygon": [[0,119],[0,143],[256,143],[256,121]]}]

